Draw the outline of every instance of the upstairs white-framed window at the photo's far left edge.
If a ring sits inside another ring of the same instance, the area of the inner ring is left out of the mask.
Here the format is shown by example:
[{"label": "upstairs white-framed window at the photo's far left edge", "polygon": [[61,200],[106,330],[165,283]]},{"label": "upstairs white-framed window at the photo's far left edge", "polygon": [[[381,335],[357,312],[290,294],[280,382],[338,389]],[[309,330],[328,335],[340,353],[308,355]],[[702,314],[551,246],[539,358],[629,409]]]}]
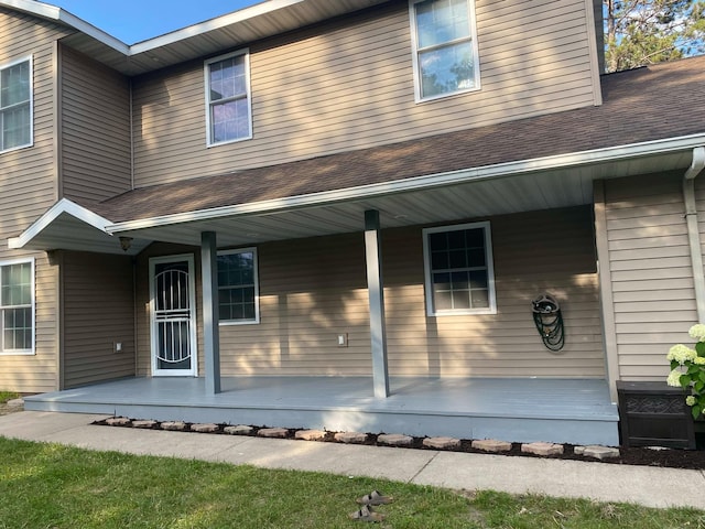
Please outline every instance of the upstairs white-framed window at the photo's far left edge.
[{"label": "upstairs white-framed window at the photo's far left edge", "polygon": [[32,144],[32,58],[0,65],[0,152]]}]

